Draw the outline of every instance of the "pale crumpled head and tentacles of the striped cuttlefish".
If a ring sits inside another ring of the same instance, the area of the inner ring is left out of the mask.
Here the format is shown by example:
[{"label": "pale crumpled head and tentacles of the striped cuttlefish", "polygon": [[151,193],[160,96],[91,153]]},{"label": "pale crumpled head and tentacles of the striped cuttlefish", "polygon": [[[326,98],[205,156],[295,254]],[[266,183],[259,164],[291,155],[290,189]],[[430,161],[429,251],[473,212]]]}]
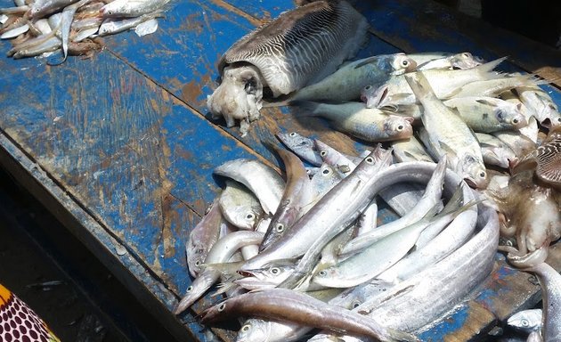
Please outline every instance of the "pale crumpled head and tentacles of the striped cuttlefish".
[{"label": "pale crumpled head and tentacles of the striped cuttlefish", "polygon": [[222,83],[207,98],[207,110],[212,118],[224,118],[228,127],[236,120],[245,122],[259,118],[262,107],[263,83],[255,66],[224,68]]}]

